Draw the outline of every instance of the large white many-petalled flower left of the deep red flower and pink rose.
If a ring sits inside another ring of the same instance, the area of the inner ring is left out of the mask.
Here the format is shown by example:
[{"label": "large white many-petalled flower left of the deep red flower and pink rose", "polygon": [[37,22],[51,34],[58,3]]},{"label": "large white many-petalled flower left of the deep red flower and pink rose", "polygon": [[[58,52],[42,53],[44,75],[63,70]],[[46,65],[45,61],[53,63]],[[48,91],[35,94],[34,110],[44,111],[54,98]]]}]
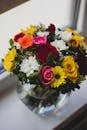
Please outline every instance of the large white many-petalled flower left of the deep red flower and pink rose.
[{"label": "large white many-petalled flower left of the deep red flower and pink rose", "polygon": [[24,59],[20,65],[20,71],[26,73],[27,77],[35,70],[39,70],[39,64],[35,56],[30,56],[28,59]]}]

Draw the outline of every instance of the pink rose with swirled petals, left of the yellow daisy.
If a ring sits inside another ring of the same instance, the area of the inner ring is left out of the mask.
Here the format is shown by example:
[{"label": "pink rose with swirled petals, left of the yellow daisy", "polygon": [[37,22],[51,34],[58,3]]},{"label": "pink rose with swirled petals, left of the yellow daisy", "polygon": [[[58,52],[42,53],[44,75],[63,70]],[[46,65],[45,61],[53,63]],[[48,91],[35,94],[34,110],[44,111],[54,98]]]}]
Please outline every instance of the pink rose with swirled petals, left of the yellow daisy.
[{"label": "pink rose with swirled petals, left of the yellow daisy", "polygon": [[49,86],[54,74],[51,66],[44,66],[41,70],[42,84]]}]

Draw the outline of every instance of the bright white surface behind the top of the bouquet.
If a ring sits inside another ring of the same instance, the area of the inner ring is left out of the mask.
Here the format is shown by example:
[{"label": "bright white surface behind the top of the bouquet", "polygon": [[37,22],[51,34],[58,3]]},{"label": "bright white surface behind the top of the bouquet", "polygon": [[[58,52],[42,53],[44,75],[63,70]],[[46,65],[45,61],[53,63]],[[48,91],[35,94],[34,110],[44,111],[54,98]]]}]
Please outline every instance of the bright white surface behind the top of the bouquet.
[{"label": "bright white surface behind the top of the bouquet", "polygon": [[72,25],[76,0],[31,0],[0,15],[0,59],[9,47],[9,38],[30,23]]}]

